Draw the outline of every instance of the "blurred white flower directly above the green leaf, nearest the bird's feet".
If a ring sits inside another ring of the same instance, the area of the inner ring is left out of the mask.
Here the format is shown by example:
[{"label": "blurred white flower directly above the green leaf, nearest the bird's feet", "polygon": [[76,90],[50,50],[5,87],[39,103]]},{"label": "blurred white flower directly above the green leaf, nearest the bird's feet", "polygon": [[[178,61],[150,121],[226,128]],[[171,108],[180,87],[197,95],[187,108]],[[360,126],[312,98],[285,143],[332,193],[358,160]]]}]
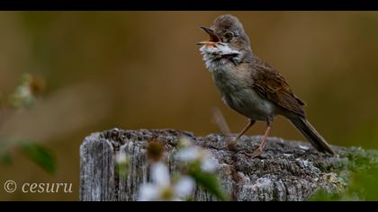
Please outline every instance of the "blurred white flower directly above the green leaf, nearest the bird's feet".
[{"label": "blurred white flower directly above the green leaf, nearest the bird's feet", "polygon": [[[184,145],[182,144],[184,142]],[[180,140],[180,149],[175,157],[182,162],[195,163],[199,162],[201,164],[201,169],[203,172],[214,172],[217,168],[217,161],[211,157],[211,153],[199,146],[193,146],[191,142],[188,143],[186,139]]]}]

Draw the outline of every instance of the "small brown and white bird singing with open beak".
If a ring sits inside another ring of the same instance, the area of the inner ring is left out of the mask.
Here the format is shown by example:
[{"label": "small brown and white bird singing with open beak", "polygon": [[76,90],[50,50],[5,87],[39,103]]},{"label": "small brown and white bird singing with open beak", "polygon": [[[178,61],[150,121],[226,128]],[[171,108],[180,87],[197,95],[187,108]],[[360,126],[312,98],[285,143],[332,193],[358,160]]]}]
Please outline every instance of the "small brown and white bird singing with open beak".
[{"label": "small brown and white bird singing with open beak", "polygon": [[257,120],[266,121],[265,136],[253,154],[260,155],[266,146],[274,117],[282,115],[317,150],[335,155],[327,141],[306,119],[304,102],[293,93],[284,76],[254,54],[238,18],[229,14],[220,15],[210,28],[201,28],[210,35],[210,40],[198,44],[202,45],[203,60],[212,73],[222,100],[249,119],[236,140]]}]

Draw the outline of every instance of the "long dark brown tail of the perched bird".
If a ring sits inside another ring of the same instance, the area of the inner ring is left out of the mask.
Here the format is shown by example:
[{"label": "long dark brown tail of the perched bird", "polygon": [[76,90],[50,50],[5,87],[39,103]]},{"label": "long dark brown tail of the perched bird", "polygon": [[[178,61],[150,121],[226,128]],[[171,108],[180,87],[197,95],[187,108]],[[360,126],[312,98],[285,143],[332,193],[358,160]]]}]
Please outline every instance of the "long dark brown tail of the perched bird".
[{"label": "long dark brown tail of the perched bird", "polygon": [[327,141],[320,136],[318,131],[312,127],[311,123],[306,118],[296,116],[290,120],[295,128],[297,128],[318,151],[336,155]]}]

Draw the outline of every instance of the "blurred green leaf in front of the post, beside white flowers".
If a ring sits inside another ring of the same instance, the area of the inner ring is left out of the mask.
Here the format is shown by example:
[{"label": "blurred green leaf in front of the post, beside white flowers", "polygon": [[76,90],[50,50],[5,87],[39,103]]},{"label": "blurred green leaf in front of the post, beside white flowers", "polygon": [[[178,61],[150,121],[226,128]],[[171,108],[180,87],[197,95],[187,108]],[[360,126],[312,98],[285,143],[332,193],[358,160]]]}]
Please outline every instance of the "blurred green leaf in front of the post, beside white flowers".
[{"label": "blurred green leaf in front of the post, beside white flowers", "polygon": [[188,170],[189,176],[193,177],[194,181],[203,189],[208,190],[211,194],[215,195],[221,201],[229,200],[229,196],[221,188],[220,182],[217,177],[209,172],[202,172],[200,165],[193,163]]}]

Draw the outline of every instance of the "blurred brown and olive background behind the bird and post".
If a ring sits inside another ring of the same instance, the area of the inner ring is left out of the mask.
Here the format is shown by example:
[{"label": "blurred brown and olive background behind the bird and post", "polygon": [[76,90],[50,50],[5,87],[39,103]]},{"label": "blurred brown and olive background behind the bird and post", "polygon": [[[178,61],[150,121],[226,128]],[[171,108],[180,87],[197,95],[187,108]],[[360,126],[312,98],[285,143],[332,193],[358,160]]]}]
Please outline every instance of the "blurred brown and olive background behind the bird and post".
[{"label": "blurred brown and olive background behind the bird and post", "polygon": [[[0,200],[77,200],[85,136],[108,128],[218,132],[212,108],[232,132],[247,119],[220,100],[195,45],[198,26],[237,15],[255,53],[275,66],[307,102],[308,117],[329,143],[378,147],[378,13],[375,12],[2,12],[0,97],[23,73],[46,89],[30,110],[17,110],[2,137],[47,146],[55,175],[13,152],[0,165]],[[263,134],[259,123],[248,135]],[[303,139],[283,118],[273,137]],[[3,141],[4,142],[4,141]],[[71,194],[7,194],[3,183],[72,182]]]}]

